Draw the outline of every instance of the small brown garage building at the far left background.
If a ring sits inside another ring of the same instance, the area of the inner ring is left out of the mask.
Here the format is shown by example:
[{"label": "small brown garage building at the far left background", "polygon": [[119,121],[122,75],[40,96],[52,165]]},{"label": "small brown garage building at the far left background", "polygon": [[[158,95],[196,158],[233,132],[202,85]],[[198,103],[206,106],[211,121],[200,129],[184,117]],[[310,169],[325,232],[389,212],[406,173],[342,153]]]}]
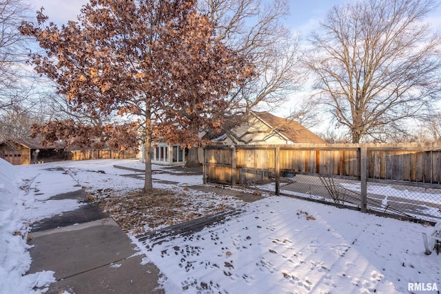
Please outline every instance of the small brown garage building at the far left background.
[{"label": "small brown garage building at the far left background", "polygon": [[0,142],[0,158],[14,165],[64,159],[63,150],[41,146],[38,139],[7,139]]}]

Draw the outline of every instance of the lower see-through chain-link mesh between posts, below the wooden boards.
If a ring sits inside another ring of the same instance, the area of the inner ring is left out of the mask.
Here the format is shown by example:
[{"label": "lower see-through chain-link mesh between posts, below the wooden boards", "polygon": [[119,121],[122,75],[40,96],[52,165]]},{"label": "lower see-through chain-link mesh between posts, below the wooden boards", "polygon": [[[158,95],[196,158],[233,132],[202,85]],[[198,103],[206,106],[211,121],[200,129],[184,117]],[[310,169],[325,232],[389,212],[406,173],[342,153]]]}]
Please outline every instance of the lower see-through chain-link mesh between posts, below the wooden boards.
[{"label": "lower see-through chain-link mesh between posts, below the wooden boards", "polygon": [[[238,185],[276,193],[271,170],[240,169]],[[301,199],[360,208],[361,182],[317,174],[280,173],[280,194]],[[398,218],[441,221],[441,190],[415,185],[367,182],[367,209]]]}]

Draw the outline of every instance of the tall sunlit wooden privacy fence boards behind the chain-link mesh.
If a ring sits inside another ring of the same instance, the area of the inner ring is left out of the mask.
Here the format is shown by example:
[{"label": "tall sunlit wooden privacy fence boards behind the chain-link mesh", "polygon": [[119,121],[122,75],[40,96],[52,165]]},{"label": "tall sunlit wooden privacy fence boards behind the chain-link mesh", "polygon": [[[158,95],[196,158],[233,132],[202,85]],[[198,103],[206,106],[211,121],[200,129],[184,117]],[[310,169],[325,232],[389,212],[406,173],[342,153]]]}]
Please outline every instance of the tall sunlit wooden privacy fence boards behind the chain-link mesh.
[{"label": "tall sunlit wooden privacy fence boards behind the chain-link mesh", "polygon": [[203,170],[205,182],[230,185],[271,178],[276,194],[281,175],[356,180],[366,212],[368,182],[440,189],[441,143],[207,146]]}]

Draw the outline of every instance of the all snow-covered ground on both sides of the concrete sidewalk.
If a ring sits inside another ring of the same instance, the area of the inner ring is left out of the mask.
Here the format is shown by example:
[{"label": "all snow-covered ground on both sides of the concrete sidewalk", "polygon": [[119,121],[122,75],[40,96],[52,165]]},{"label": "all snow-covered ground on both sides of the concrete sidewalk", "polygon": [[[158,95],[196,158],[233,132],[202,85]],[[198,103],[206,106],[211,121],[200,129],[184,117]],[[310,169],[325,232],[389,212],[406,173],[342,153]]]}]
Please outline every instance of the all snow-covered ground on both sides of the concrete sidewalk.
[{"label": "all snow-covered ground on both sides of the concrete sidewalk", "polygon": [[[130,171],[115,169],[114,164],[142,168],[134,160],[10,166],[0,159],[1,293],[34,293],[34,286],[54,281],[53,272],[25,275],[31,263],[25,242],[28,225],[74,210],[80,203],[50,201],[50,195],[69,192],[77,184],[94,191],[142,187],[141,178],[121,177]],[[76,182],[60,170],[60,185],[38,185],[39,179],[54,177],[48,169],[58,166]],[[173,188],[202,182],[201,176],[191,175],[164,173],[154,178],[174,182]],[[164,181],[154,185],[170,188]],[[166,293],[437,293],[415,289],[441,289],[441,256],[424,255],[422,243],[421,233],[431,234],[433,227],[283,196],[267,197],[240,210],[243,213],[225,223],[161,245],[130,238],[163,273]]]}]

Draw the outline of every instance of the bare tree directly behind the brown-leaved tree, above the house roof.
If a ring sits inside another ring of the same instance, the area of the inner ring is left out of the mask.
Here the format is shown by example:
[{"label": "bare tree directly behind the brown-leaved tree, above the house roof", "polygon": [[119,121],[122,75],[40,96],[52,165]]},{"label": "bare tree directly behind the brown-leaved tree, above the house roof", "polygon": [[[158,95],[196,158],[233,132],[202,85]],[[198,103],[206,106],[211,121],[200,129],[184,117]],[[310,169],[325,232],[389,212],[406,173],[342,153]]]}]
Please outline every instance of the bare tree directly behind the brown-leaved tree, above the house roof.
[{"label": "bare tree directly behind the brown-leaved tree, above the house roof", "polygon": [[[283,25],[289,7],[285,0],[199,0],[198,8],[215,23],[216,37],[238,54],[247,56],[256,75],[229,92],[227,106],[212,115],[225,116],[223,131],[246,122],[249,111],[274,108],[300,87],[299,38]],[[196,166],[194,148],[187,166]]]}]

